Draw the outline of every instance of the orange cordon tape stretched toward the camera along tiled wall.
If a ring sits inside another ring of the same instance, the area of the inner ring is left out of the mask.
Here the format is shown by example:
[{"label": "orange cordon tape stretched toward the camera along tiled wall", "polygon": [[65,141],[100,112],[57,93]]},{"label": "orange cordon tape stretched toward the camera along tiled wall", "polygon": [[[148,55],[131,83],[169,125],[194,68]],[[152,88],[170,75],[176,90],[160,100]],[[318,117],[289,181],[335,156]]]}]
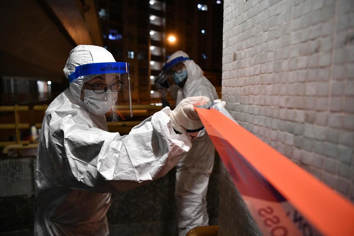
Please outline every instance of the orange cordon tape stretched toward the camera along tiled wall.
[{"label": "orange cordon tape stretched toward the camera along tiled wall", "polygon": [[219,111],[195,109],[265,236],[354,235],[350,201]]}]

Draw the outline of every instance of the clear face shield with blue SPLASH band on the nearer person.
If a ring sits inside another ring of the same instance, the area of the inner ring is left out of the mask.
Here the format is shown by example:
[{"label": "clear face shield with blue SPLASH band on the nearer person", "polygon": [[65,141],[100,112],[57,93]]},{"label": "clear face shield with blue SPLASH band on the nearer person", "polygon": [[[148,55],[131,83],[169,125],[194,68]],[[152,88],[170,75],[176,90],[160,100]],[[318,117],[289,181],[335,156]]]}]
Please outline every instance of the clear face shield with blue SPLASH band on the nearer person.
[{"label": "clear face shield with blue SPLASH band on the nearer person", "polygon": [[104,115],[107,122],[133,116],[129,63],[107,62],[80,65],[69,75],[70,82],[84,76],[81,89],[83,107],[94,115]]}]

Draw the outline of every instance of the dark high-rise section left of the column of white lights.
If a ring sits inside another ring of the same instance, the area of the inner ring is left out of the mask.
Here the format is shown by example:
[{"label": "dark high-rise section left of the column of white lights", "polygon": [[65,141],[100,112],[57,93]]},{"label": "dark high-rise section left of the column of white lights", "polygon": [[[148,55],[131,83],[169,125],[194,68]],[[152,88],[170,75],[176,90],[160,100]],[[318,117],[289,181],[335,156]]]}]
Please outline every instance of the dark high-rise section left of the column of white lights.
[{"label": "dark high-rise section left of the column of white lights", "polygon": [[116,61],[129,62],[132,102],[149,103],[149,2],[99,0],[104,47]]}]

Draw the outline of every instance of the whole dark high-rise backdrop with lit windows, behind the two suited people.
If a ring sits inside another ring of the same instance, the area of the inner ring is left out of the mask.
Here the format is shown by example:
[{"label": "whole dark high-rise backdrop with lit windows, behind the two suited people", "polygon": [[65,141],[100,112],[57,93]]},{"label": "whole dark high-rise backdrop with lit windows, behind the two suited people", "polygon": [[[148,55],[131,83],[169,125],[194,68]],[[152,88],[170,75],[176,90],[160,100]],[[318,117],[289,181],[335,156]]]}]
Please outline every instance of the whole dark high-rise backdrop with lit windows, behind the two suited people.
[{"label": "whole dark high-rise backdrop with lit windows, behind the two suited people", "polygon": [[132,102],[158,102],[154,77],[175,51],[185,51],[221,86],[222,4],[207,0],[99,0],[104,47],[129,62]]}]

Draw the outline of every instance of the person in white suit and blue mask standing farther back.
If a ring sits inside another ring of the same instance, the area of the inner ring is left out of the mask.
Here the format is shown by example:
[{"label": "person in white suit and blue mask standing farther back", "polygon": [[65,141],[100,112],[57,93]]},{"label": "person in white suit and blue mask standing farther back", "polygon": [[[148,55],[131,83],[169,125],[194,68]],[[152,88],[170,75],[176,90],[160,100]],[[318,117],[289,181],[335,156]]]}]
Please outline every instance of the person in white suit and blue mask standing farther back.
[{"label": "person in white suit and blue mask standing farther back", "polygon": [[[162,102],[165,104],[167,88],[172,97],[175,97],[176,104],[187,97],[206,96],[210,100],[203,107],[207,108],[213,100],[218,99],[215,87],[203,76],[201,68],[183,51],[177,51],[170,56],[163,71],[156,77],[155,84],[161,88]],[[205,129],[202,129],[193,140],[192,148],[177,164],[175,196],[179,236],[186,235],[190,229],[197,226],[209,224],[206,192],[214,156],[214,145]]]}]

